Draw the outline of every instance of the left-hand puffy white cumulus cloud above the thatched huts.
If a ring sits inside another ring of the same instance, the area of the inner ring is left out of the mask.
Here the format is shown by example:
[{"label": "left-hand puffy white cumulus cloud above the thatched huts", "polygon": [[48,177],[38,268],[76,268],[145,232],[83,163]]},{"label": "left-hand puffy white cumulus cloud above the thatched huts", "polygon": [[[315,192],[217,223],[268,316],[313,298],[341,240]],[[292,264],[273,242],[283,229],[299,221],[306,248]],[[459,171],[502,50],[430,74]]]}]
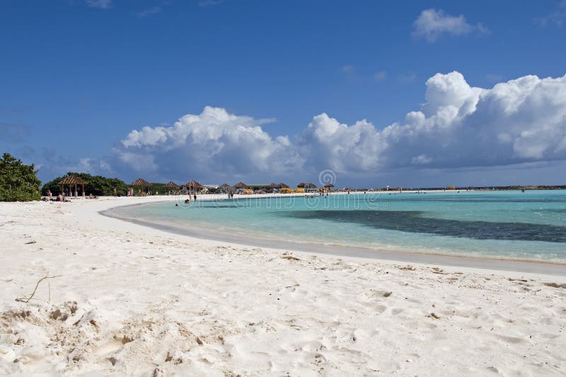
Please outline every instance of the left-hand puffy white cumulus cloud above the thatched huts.
[{"label": "left-hand puffy white cumulus cloud above the thatched huts", "polygon": [[[272,137],[262,125],[272,119],[236,116],[207,106],[172,126],[132,130],[115,150],[136,171],[192,171],[218,175],[282,174],[301,167],[289,137]],[[176,173],[178,175],[178,173]]]}]

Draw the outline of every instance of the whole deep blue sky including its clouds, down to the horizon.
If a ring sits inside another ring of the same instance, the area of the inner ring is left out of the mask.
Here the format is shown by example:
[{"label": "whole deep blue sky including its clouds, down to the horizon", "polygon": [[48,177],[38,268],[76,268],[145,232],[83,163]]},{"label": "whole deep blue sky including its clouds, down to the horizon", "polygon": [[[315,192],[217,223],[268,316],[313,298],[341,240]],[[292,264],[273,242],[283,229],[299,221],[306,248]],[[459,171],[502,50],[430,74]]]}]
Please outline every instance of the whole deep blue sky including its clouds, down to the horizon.
[{"label": "whole deep blue sky including its clouds, down to the horizon", "polygon": [[[0,147],[44,181],[83,169],[293,184],[332,169],[339,186],[564,184],[565,37],[564,1],[4,1]],[[557,81],[489,91],[529,75]],[[463,101],[427,105],[448,86],[477,111],[446,120]],[[517,90],[516,116],[490,112]],[[187,114],[214,135],[175,128]],[[400,135],[383,132],[393,124]]]}]

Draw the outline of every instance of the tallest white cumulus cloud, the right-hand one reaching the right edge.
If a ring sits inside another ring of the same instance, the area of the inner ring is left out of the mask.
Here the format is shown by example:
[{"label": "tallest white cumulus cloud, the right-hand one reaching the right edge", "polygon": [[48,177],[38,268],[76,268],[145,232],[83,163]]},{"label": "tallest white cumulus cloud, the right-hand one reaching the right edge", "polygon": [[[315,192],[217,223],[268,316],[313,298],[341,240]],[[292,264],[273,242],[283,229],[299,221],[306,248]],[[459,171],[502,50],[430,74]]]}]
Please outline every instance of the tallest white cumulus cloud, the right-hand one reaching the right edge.
[{"label": "tallest white cumulus cloud, the right-hand one reaching the right edge", "polygon": [[316,158],[343,171],[566,159],[566,76],[481,89],[459,72],[435,74],[425,98],[419,111],[383,130],[365,120],[348,126],[316,116],[304,140]]}]

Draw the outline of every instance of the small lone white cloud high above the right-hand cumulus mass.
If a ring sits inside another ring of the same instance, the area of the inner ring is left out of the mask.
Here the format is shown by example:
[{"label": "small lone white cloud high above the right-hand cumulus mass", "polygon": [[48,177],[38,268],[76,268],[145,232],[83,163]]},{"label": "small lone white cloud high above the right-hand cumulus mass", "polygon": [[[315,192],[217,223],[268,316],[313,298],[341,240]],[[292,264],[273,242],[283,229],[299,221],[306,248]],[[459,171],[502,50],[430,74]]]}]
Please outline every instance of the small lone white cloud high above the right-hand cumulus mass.
[{"label": "small lone white cloud high above the right-hand cumulus mass", "polygon": [[471,25],[463,15],[451,16],[441,9],[425,9],[412,24],[413,35],[424,38],[429,43],[435,42],[442,34],[465,35],[476,30],[489,33],[481,23]]}]

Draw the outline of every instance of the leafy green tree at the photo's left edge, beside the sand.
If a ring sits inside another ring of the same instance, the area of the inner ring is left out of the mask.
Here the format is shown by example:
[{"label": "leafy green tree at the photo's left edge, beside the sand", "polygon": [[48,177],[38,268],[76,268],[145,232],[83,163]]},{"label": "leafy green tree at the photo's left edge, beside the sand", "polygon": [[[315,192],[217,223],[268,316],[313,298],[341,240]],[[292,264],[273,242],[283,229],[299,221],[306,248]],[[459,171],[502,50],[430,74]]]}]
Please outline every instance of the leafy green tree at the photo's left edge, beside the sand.
[{"label": "leafy green tree at the photo's left edge, beside the sand", "polygon": [[0,159],[0,201],[38,201],[41,181],[33,164],[23,164],[9,153]]}]

